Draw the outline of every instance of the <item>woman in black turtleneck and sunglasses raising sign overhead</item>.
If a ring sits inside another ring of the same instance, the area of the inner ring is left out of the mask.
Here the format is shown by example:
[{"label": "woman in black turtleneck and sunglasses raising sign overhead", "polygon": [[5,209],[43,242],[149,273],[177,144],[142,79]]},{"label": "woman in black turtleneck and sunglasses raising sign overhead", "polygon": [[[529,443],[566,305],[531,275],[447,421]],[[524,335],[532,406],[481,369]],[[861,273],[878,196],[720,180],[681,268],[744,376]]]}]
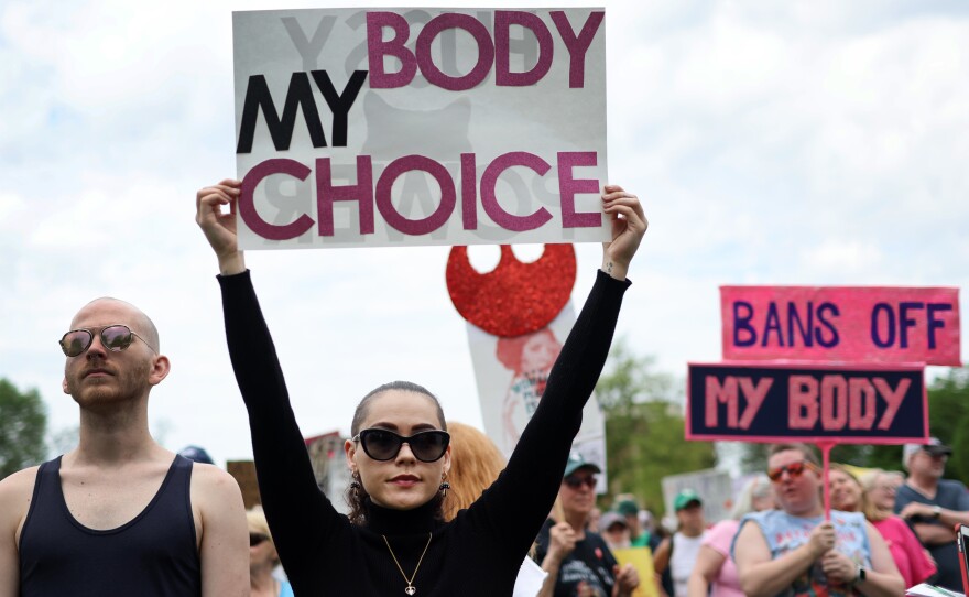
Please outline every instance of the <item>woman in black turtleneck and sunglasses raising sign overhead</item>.
[{"label": "woman in black turtleneck and sunglasses raising sign overhead", "polygon": [[639,199],[618,186],[605,188],[612,241],[603,245],[601,273],[535,414],[498,480],[444,521],[451,467],[447,423],[437,398],[409,381],[375,388],[357,408],[345,444],[349,515],[319,491],[238,248],[233,213],[241,187],[227,180],[199,191],[196,221],[218,259],[229,355],[249,411],[259,489],[295,593],[510,595],[555,500],[583,406],[609,352],[625,274],[646,230]]}]

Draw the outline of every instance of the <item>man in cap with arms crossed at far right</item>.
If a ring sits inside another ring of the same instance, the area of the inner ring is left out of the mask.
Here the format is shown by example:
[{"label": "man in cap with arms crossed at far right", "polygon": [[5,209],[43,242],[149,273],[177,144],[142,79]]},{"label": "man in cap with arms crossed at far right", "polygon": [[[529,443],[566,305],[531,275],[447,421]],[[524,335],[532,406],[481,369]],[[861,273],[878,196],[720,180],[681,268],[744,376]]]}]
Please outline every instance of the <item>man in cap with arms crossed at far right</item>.
[{"label": "man in cap with arms crossed at far right", "polygon": [[961,589],[956,524],[969,524],[969,493],[959,481],[943,479],[952,448],[938,437],[905,444],[902,464],[908,478],[895,495],[895,512],[907,520],[938,565],[937,585]]}]

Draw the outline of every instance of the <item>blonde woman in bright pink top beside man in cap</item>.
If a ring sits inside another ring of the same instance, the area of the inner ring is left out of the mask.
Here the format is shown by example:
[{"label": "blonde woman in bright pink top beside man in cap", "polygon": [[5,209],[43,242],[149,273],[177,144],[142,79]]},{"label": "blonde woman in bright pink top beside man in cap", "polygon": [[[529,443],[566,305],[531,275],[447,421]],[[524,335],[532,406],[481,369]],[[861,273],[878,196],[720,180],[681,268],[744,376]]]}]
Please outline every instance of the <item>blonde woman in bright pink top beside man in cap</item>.
[{"label": "blonde woman in bright pink top beside man in cap", "polygon": [[[878,477],[878,474],[872,477]],[[878,529],[906,587],[915,586],[935,574],[935,563],[912,529],[901,518],[893,515],[891,509],[883,510],[874,506],[861,482],[848,468],[832,464],[828,474],[828,484],[831,491],[831,508],[842,512],[862,512],[864,518]],[[884,491],[882,488],[880,490]]]}]

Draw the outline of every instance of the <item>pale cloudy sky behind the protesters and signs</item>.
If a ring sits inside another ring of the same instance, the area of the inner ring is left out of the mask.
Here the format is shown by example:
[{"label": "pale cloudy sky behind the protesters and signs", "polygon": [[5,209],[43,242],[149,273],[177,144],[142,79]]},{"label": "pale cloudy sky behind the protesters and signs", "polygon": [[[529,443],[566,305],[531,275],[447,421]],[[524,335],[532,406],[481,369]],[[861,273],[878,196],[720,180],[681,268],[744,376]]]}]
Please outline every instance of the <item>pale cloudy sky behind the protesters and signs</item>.
[{"label": "pale cloudy sky behind the protesters and signs", "polygon": [[[651,220],[620,321],[633,350],[677,377],[718,360],[720,284],[966,287],[967,4],[605,6],[610,175]],[[173,361],[152,394],[164,444],[251,454],[193,202],[235,172],[231,11],[268,8],[0,4],[0,376],[41,391],[52,431],[77,420],[55,343],[113,295]],[[581,303],[599,249],[578,256]],[[247,257],[306,434],[347,431],[398,378],[480,424],[446,249]]]}]

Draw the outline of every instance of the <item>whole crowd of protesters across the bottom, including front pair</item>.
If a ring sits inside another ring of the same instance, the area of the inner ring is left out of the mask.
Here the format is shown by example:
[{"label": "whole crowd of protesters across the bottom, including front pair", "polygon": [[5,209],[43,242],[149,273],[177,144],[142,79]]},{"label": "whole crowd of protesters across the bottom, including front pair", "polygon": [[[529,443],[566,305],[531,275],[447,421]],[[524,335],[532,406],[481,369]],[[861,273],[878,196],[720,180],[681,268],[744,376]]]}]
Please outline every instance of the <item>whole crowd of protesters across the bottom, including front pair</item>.
[{"label": "whole crowd of protesters across the bottom, including front pair", "polygon": [[431,391],[394,381],[359,402],[344,446],[352,480],[346,496],[325,495],[238,249],[239,194],[238,181],[199,191],[196,221],[219,265],[261,508],[246,511],[235,479],[204,449],[174,454],[151,437],[149,394],[170,370],[159,332],[138,307],[98,298],[61,339],[78,446],[0,481],[0,597],[799,597],[899,596],[925,580],[960,587],[952,525],[969,523],[969,493],[943,478],[951,451],[935,438],[905,446],[907,478],[832,467],[830,515],[818,458],[802,444],[773,446],[765,475],[712,527],[707,497],[692,489],[673,500],[668,531],[634,496],[599,515],[602,470],[571,442],[647,226],[639,199],[618,186],[602,194],[613,239],[508,462],[480,432],[449,424]]}]

